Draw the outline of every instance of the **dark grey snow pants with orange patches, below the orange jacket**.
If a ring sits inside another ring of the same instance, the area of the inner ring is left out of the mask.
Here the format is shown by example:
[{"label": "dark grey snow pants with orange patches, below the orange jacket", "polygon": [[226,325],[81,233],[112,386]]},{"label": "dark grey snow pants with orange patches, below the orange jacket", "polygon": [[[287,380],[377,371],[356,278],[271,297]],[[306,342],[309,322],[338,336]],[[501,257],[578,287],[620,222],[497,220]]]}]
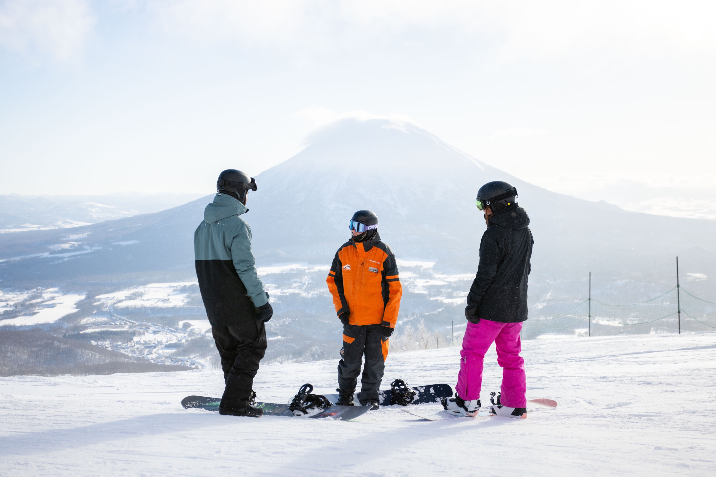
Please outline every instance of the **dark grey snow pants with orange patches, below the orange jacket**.
[{"label": "dark grey snow pants with orange patches, below the orange jacket", "polygon": [[362,358],[365,366],[361,378],[361,404],[379,400],[380,382],[388,355],[388,338],[383,336],[382,325],[343,325],[343,348],[338,363],[338,386],[341,390],[356,388]]}]

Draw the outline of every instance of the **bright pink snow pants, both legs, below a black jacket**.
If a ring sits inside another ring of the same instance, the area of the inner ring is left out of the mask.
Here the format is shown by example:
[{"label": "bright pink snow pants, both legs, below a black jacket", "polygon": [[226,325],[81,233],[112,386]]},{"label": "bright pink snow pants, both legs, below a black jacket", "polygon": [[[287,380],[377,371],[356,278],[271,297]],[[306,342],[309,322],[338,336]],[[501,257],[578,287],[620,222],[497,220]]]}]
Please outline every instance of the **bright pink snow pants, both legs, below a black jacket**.
[{"label": "bright pink snow pants, both legs, below a black jacket", "polygon": [[463,349],[460,351],[458,385],[455,387],[460,398],[465,400],[480,398],[480,388],[483,385],[483,360],[485,353],[494,342],[497,362],[502,366],[500,403],[508,408],[527,406],[525,360],[520,357],[521,329],[522,323],[499,323],[490,320],[480,320],[477,325],[468,323],[463,337]]}]

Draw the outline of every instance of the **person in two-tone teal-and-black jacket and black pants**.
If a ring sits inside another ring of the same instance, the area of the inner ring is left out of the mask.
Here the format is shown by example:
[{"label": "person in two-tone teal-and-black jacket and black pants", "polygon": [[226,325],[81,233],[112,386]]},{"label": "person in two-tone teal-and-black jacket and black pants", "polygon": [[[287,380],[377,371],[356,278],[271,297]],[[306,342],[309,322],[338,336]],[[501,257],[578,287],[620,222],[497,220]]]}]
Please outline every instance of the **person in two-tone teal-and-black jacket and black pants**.
[{"label": "person in two-tone teal-and-black jacket and black pants", "polygon": [[266,328],[274,310],[258,279],[251,252],[251,227],[244,222],[253,177],[227,169],[216,182],[214,201],[194,232],[196,277],[221,356],[226,388],[219,413],[260,417],[253,408],[253,378],[266,353]]}]

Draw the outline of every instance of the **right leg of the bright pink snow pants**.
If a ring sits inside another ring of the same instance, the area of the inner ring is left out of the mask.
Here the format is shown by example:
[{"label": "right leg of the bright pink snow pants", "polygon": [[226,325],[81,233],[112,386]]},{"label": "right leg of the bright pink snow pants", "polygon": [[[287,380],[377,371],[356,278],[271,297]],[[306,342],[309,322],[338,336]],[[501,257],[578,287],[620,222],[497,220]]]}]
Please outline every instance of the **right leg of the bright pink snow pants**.
[{"label": "right leg of the bright pink snow pants", "polygon": [[522,323],[504,323],[504,325],[495,338],[497,363],[502,366],[500,403],[508,408],[525,408],[527,406],[527,380],[525,360],[520,356]]}]

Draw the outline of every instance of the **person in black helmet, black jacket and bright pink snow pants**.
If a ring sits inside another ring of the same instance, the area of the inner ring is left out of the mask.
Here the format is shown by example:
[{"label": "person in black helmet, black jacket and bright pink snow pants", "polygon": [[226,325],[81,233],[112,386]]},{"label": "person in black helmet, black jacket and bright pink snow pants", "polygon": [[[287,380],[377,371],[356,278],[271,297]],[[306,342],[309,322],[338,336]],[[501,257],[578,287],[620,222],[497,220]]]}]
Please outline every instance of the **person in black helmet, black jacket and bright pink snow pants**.
[{"label": "person in black helmet, black jacket and bright pink snow pants", "polygon": [[448,413],[475,415],[480,410],[483,360],[495,343],[502,366],[501,395],[491,411],[516,418],[527,417],[525,361],[520,331],[527,319],[527,277],[533,238],[530,219],[515,199],[517,190],[507,182],[480,187],[478,209],[488,225],[480,241],[480,265],[468,294],[468,327],[460,351],[460,373],[455,397],[442,405]]}]

